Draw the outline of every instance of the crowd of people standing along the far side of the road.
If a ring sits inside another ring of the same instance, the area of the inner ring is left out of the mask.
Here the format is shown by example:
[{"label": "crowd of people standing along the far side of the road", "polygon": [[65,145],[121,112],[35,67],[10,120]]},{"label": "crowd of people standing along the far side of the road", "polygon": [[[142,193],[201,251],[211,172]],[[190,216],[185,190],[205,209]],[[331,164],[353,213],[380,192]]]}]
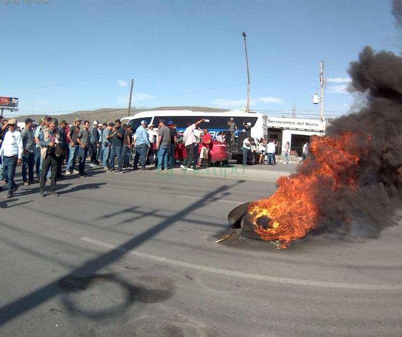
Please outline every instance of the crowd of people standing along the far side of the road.
[{"label": "crowd of people standing along the far side of the road", "polygon": [[[199,127],[205,121],[203,118],[186,125],[182,140],[186,157],[180,165],[182,170],[192,171],[208,161],[212,137],[208,128]],[[15,118],[5,119],[1,123],[0,190],[3,189],[2,185],[7,185],[6,199],[12,198],[18,189],[14,177],[16,166],[20,164],[23,184],[29,186],[39,183],[41,197],[45,196],[47,182],[50,182],[51,194],[58,196],[56,182],[64,179],[63,168],[65,175],[77,174],[79,178],[85,178],[87,157],[90,157],[90,166],[103,165],[107,173],[115,174],[122,174],[123,168],[132,168],[134,171],[150,170],[146,167],[147,164],[154,164],[158,171],[174,167],[178,133],[177,125],[171,120],[166,123],[164,119],[160,119],[157,131],[154,130],[155,125],[148,124],[146,120],[142,120],[136,130],[132,130],[131,125],[122,125],[119,119],[113,123],[100,124],[96,120],[92,123],[85,120],[82,123],[81,118],[75,118],[72,124],[68,124],[66,120],[59,122],[56,118],[45,116],[37,124],[34,122],[27,118],[22,130],[18,129]],[[228,121],[227,127],[230,142],[233,142],[235,130],[238,131],[233,118]],[[246,165],[251,146],[256,146],[250,135],[250,127],[251,123],[243,122],[242,132],[246,132],[242,144],[243,165]],[[218,132],[216,140],[226,142],[225,136],[225,132]],[[275,140],[259,140],[259,163],[267,155],[266,164],[275,164],[276,145]],[[303,148],[304,159],[307,151],[308,144]],[[289,162],[289,152],[287,142],[284,163]]]}]

